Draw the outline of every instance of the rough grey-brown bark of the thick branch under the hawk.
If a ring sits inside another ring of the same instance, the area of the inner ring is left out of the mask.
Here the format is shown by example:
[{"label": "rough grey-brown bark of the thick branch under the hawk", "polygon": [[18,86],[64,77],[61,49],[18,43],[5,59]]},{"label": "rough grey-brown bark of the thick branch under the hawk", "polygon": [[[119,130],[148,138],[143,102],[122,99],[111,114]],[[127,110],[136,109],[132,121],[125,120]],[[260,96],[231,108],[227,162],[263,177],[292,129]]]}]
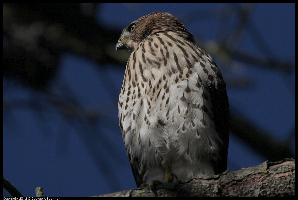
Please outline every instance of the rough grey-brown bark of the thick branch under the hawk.
[{"label": "rough grey-brown bark of the thick branch under the hawk", "polygon": [[[293,197],[295,159],[261,163],[256,167],[168,183],[156,187],[159,197]],[[154,197],[149,187],[92,197]]]}]

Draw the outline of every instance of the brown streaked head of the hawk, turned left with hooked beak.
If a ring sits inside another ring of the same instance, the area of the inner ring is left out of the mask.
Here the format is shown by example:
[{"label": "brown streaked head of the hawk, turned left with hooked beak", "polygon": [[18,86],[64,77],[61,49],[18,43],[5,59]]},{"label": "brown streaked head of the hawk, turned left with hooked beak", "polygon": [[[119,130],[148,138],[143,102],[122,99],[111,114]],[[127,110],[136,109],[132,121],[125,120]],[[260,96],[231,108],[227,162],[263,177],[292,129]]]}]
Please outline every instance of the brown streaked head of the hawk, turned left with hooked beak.
[{"label": "brown streaked head of the hawk, turned left with hooked beak", "polygon": [[194,42],[193,35],[178,18],[167,12],[152,12],[123,29],[116,43],[116,51],[126,48],[132,52],[146,37],[163,31],[179,31],[185,39]]}]

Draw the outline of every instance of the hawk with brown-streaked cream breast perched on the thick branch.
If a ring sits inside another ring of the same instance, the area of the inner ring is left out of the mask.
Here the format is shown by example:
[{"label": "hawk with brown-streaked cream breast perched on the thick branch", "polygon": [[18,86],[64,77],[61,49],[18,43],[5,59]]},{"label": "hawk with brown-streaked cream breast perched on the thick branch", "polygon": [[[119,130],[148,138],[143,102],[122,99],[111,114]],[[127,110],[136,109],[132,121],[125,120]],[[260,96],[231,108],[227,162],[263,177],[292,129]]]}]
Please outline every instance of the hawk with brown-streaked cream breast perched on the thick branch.
[{"label": "hawk with brown-streaked cream breast perched on the thick branch", "polygon": [[167,12],[123,29],[116,50],[125,48],[119,126],[136,185],[169,182],[170,172],[180,180],[224,172],[229,102],[211,56]]}]

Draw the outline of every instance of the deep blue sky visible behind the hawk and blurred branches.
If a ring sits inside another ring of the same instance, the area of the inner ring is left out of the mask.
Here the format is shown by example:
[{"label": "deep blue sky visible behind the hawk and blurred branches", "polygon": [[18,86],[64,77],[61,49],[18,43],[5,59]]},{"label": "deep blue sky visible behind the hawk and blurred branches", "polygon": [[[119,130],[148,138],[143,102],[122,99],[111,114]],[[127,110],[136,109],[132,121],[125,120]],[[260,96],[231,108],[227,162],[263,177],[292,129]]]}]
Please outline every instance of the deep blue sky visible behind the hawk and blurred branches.
[{"label": "deep blue sky visible behind the hawk and blurred branches", "polygon": [[[218,42],[224,24],[232,28],[234,16],[225,20],[203,15],[212,9],[222,10],[230,4],[121,4],[106,3],[95,18],[108,29],[122,29],[135,19],[154,11],[170,12],[185,22],[196,39]],[[234,4],[235,5],[235,4]],[[238,6],[243,4],[237,4]],[[203,14],[202,14],[203,13]],[[261,42],[256,42],[260,37]],[[255,4],[249,26],[235,47],[263,59],[295,63],[295,4]],[[115,43],[118,38],[115,38]],[[205,49],[205,51],[207,51]],[[208,52],[208,51],[207,51]],[[208,52],[210,53],[210,52]],[[213,56],[214,57],[214,56]],[[295,127],[295,75],[232,60],[222,67],[215,57],[225,81],[249,80],[251,86],[227,84],[231,112],[240,113],[273,137],[286,142]],[[49,86],[52,94],[64,96],[81,105],[81,119],[65,118],[57,110],[43,111],[12,108],[3,113],[3,176],[27,197],[35,196],[41,186],[49,197],[92,196],[135,188],[118,127],[117,101],[125,66],[100,66],[92,59],[71,52],[59,55],[58,73]],[[103,84],[110,81],[110,88]],[[7,80],[3,81],[4,85]],[[4,88],[3,101],[48,98],[21,84]],[[55,100],[55,95],[50,97]],[[90,124],[83,116],[99,114]],[[79,115],[80,116],[80,115]],[[13,125],[12,125],[13,124]],[[289,145],[295,152],[295,138]],[[268,160],[230,135],[228,168],[256,166]],[[3,191],[3,196],[9,196]]]}]

